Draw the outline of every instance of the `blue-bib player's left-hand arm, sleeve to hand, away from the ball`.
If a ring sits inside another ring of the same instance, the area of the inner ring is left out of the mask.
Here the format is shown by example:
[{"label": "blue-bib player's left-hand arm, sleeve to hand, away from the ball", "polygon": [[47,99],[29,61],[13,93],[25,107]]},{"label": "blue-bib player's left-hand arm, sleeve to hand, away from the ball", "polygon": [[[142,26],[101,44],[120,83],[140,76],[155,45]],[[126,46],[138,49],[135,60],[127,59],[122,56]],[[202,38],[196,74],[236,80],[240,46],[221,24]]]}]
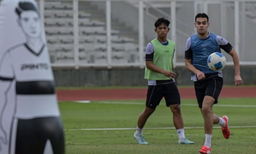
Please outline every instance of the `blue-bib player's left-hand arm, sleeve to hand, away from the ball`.
[{"label": "blue-bib player's left-hand arm, sleeve to hand, away from the ball", "polygon": [[193,58],[193,52],[192,52],[192,49],[190,48],[190,45],[191,45],[190,38],[188,38],[185,46],[185,56],[184,56],[185,66],[187,70],[197,75],[198,80],[202,80],[205,78],[204,73],[196,69],[196,67],[194,67],[191,63]]}]

